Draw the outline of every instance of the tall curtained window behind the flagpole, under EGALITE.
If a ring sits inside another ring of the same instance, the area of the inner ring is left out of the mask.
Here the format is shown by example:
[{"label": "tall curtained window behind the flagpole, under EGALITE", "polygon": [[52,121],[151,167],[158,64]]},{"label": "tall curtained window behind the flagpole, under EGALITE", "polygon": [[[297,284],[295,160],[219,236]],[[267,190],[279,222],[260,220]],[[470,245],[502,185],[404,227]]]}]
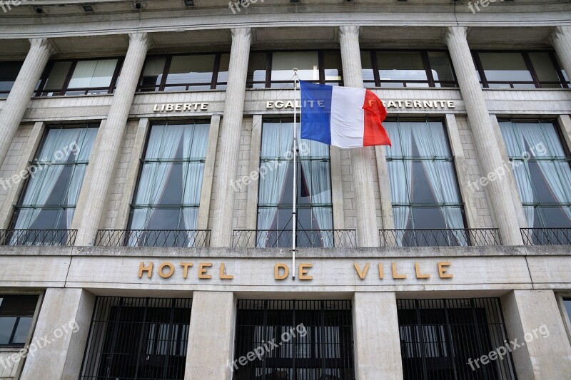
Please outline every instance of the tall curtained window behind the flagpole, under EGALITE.
[{"label": "tall curtained window behind the flagpole, under EGALITE", "polygon": [[[298,245],[332,246],[333,204],[329,147],[299,140],[297,176]],[[293,123],[264,120],[258,195],[258,247],[291,245]],[[262,173],[266,173],[262,175]]]}]

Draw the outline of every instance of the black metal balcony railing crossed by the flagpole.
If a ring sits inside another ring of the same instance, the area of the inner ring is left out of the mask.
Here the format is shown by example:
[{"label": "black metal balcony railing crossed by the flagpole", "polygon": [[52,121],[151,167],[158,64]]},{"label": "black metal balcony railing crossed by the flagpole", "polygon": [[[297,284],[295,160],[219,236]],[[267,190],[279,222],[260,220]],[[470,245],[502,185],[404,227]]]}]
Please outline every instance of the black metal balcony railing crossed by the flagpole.
[{"label": "black metal balcony railing crossed by the flagpole", "polygon": [[[234,230],[233,247],[286,248],[291,247],[291,230]],[[357,247],[355,230],[298,230],[297,247],[351,248]]]}]

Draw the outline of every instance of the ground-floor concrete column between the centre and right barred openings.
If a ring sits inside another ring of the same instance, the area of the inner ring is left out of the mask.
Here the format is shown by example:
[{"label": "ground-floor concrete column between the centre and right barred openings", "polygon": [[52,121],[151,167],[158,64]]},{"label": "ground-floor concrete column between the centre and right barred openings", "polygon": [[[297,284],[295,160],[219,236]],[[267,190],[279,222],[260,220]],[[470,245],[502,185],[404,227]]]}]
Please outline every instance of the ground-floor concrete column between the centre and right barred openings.
[{"label": "ground-floor concrete column between the centre and right barred openings", "polygon": [[403,379],[394,292],[355,292],[353,340],[356,379]]}]

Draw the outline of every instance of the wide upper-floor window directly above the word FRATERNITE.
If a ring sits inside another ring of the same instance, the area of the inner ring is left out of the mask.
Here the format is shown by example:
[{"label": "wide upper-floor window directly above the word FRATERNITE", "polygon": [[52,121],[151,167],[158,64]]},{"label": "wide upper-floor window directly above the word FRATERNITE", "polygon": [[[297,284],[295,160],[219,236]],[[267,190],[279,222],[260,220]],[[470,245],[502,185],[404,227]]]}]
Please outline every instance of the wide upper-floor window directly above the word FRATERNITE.
[{"label": "wide upper-floor window directly above the word FRATERNITE", "polygon": [[362,51],[365,87],[457,87],[447,51]]}]

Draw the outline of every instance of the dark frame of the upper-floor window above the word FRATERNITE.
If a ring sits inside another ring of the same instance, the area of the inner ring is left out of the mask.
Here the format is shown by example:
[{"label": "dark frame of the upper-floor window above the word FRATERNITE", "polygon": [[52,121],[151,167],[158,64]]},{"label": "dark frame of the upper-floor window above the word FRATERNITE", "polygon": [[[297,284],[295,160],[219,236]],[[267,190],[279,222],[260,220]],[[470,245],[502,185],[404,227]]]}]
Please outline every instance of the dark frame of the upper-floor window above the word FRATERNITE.
[{"label": "dark frame of the upper-floor window above the word FRATERNITE", "polygon": [[[378,66],[378,60],[377,60],[377,53],[379,52],[403,52],[403,53],[420,53],[420,57],[423,60],[423,64],[424,64],[424,69],[425,69],[425,73],[426,73],[426,81],[400,81],[397,79],[391,79],[389,81],[381,81],[380,80],[380,74],[379,74],[379,66]],[[390,90],[394,90],[394,89],[398,89],[398,87],[383,87],[382,84],[383,83],[403,83],[403,87],[402,88],[414,88],[415,90],[418,90],[419,88],[422,89],[423,87],[408,87],[406,86],[407,83],[428,83],[428,88],[459,88],[458,86],[458,77],[456,76],[456,72],[454,70],[454,65],[452,63],[452,58],[450,58],[450,52],[446,49],[395,49],[395,48],[391,48],[391,49],[368,49],[368,48],[362,48],[361,53],[369,53],[370,54],[370,61],[371,61],[371,66],[373,66],[373,78],[374,81],[363,81],[364,83],[374,83],[375,86],[373,86],[373,88],[383,88],[383,89],[390,89]],[[432,69],[430,67],[430,59],[428,58],[428,53],[429,52],[437,52],[437,53],[446,53],[446,56],[448,56],[448,62],[450,63],[450,69],[452,70],[452,75],[454,77],[454,81],[435,81],[434,80],[434,76],[433,76],[433,72]],[[363,66],[361,64],[361,66]],[[441,84],[452,84],[453,86],[440,86],[437,87],[436,83],[441,83]],[[368,87],[370,88],[370,87]]]}]

